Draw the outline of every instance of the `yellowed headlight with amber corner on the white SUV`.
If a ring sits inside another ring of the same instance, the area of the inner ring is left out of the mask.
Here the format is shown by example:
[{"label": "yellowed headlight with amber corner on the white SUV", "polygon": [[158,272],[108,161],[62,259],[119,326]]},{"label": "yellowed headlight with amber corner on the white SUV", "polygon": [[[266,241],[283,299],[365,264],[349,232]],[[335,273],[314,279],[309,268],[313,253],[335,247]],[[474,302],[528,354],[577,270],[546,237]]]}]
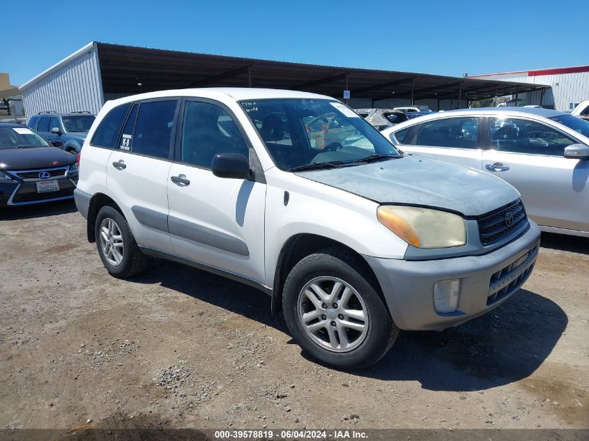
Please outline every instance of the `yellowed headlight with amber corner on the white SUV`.
[{"label": "yellowed headlight with amber corner on the white SUV", "polygon": [[418,248],[466,245],[466,223],[459,215],[405,206],[379,206],[378,220],[405,242]]}]

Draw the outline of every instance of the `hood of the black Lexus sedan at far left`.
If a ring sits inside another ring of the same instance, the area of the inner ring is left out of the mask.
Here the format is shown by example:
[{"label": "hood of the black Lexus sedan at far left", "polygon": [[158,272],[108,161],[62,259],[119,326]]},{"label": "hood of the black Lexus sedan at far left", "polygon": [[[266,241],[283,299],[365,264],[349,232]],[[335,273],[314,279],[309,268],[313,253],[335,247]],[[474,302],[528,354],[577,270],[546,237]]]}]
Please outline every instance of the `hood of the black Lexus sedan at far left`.
[{"label": "hood of the black Lexus sedan at far left", "polygon": [[76,161],[75,155],[57,147],[0,149],[0,169],[2,170],[50,169],[74,164]]}]

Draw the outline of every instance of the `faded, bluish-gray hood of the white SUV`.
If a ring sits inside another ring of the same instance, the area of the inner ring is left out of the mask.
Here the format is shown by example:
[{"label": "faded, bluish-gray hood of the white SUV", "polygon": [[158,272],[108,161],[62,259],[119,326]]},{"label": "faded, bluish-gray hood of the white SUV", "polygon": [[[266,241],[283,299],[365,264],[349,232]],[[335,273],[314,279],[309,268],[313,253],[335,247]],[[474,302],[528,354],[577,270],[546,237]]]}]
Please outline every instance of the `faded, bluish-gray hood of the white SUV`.
[{"label": "faded, bluish-gray hood of the white SUV", "polygon": [[442,208],[465,216],[496,210],[520,196],[489,173],[421,156],[296,174],[378,203]]}]

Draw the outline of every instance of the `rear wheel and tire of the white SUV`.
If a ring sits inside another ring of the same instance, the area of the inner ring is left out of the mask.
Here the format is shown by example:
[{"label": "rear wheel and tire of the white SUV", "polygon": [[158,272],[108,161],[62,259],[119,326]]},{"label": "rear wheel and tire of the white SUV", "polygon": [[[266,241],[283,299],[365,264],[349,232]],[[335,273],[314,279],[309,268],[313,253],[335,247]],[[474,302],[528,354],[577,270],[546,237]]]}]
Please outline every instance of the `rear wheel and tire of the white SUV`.
[{"label": "rear wheel and tire of the white SUV", "polygon": [[126,279],[145,269],[148,257],[137,246],[127,219],[121,212],[112,206],[100,208],[94,234],[98,255],[109,274]]}]

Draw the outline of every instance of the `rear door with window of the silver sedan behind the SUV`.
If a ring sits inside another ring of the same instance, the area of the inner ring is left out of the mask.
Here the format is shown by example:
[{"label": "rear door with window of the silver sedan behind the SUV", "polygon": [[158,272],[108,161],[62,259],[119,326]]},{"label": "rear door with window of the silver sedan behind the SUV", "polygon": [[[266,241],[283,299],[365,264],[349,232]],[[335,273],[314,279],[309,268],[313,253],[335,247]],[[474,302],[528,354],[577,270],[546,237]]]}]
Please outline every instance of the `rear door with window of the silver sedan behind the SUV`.
[{"label": "rear door with window of the silver sedan behind the SUV", "polygon": [[400,148],[408,153],[480,169],[481,121],[480,116],[454,116],[427,121],[418,125]]}]

